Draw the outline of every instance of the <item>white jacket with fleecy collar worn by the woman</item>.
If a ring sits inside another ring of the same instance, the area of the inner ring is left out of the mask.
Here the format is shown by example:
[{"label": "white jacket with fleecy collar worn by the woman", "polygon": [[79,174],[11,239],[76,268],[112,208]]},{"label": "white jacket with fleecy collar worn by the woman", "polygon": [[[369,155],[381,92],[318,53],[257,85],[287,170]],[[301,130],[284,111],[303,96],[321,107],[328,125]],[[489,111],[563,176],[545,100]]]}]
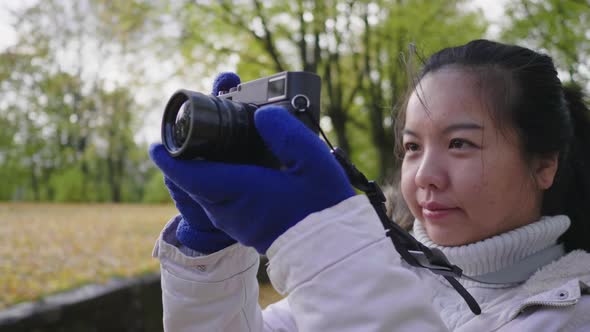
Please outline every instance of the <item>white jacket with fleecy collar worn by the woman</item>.
[{"label": "white jacket with fleecy collar worn by the woman", "polygon": [[590,254],[572,252],[524,285],[468,287],[475,316],[445,281],[401,262],[365,196],[311,214],[269,248],[268,273],[288,296],[261,311],[258,254],[235,244],[193,257],[178,219],[154,248],[164,328],[188,331],[590,331]]}]

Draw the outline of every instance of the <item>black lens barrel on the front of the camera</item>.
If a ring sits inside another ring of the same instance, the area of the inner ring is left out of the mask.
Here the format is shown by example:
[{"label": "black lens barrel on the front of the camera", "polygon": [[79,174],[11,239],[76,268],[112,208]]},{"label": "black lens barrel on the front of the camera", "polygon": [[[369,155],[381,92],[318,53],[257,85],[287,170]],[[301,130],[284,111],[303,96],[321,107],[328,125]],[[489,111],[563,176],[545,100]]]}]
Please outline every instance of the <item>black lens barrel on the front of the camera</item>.
[{"label": "black lens barrel on the front of the camera", "polygon": [[181,159],[253,163],[264,153],[254,127],[257,106],[190,90],[168,101],[162,119],[162,142]]}]

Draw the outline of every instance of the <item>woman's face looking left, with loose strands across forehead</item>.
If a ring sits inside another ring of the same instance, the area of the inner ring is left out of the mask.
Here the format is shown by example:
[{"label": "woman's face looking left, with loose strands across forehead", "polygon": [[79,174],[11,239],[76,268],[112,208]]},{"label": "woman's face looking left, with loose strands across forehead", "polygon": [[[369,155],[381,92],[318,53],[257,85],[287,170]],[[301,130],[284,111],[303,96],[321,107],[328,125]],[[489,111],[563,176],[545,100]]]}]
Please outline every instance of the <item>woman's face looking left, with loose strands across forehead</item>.
[{"label": "woman's face looking left, with loose strands across forehead", "polygon": [[431,240],[464,245],[537,220],[542,189],[516,134],[490,118],[475,76],[441,69],[417,90],[406,110],[401,187]]}]

